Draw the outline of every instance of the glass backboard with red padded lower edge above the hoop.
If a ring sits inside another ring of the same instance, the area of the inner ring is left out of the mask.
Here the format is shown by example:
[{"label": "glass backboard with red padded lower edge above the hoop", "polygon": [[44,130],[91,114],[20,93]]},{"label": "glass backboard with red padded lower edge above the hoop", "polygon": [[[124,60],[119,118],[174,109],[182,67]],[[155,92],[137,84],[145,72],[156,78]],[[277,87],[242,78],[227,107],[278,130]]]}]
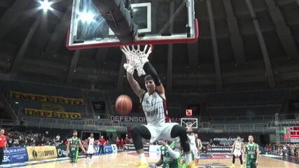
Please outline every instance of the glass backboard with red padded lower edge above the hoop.
[{"label": "glass backboard with red padded lower edge above the hoop", "polygon": [[[73,1],[67,36],[70,50],[123,45],[93,1]],[[125,45],[193,43],[198,39],[194,0],[131,0],[131,8],[132,20],[139,29],[135,41]]]}]

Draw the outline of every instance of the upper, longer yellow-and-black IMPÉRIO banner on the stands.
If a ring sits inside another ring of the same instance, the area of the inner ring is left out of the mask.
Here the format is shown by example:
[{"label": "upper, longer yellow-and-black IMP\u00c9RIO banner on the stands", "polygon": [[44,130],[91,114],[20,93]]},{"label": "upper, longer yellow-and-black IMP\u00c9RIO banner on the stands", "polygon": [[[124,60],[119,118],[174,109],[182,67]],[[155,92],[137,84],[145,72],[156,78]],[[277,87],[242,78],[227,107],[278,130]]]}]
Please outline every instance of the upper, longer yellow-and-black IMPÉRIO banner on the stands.
[{"label": "upper, longer yellow-and-black IMP\u00c9RIO banner on the stands", "polygon": [[71,99],[67,97],[46,96],[41,94],[30,94],[30,93],[15,92],[15,91],[11,91],[11,98],[33,100],[39,102],[72,104],[72,105],[81,105],[81,106],[84,105],[83,99]]}]

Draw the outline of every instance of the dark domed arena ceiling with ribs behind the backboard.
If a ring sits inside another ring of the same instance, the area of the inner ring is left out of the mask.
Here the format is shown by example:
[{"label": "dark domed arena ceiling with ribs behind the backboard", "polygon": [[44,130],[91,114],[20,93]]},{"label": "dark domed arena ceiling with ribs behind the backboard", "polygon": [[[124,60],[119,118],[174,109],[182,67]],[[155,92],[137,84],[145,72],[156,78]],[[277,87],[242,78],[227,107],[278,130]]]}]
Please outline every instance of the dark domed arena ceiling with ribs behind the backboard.
[{"label": "dark domed arena ceiling with ribs behind the backboard", "polygon": [[[169,0],[165,0],[169,1]],[[119,48],[65,47],[71,0],[53,11],[0,1],[0,78],[125,89]],[[156,45],[151,62],[167,90],[243,90],[299,83],[299,0],[195,0],[200,40]]]}]

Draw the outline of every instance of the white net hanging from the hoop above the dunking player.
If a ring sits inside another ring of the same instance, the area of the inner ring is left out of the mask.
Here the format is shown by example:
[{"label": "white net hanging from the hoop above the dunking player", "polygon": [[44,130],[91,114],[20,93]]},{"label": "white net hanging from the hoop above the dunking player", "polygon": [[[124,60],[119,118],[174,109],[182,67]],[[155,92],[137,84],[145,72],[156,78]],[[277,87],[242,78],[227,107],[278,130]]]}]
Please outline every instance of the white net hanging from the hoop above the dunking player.
[{"label": "white net hanging from the hoop above the dunking player", "polygon": [[120,50],[123,51],[125,57],[127,58],[127,63],[123,66],[127,70],[128,73],[133,74],[134,70],[137,70],[138,76],[145,75],[144,64],[148,62],[148,56],[151,54],[153,50],[153,46],[145,45],[144,50],[141,50],[140,45],[137,45],[137,48],[134,45],[130,46],[121,46]]}]

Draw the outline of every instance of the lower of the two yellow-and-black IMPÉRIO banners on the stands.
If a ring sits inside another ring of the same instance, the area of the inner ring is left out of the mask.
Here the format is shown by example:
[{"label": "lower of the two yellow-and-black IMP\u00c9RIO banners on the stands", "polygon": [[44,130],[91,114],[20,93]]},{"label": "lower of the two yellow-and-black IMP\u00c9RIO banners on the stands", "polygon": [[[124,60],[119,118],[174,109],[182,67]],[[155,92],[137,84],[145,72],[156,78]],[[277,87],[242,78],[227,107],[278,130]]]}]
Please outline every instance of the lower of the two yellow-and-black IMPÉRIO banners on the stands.
[{"label": "lower of the two yellow-and-black IMP\u00c9RIO banners on the stands", "polygon": [[64,111],[46,111],[41,109],[25,108],[27,116],[39,116],[45,118],[64,118],[64,119],[80,119],[81,113],[71,113]]}]

